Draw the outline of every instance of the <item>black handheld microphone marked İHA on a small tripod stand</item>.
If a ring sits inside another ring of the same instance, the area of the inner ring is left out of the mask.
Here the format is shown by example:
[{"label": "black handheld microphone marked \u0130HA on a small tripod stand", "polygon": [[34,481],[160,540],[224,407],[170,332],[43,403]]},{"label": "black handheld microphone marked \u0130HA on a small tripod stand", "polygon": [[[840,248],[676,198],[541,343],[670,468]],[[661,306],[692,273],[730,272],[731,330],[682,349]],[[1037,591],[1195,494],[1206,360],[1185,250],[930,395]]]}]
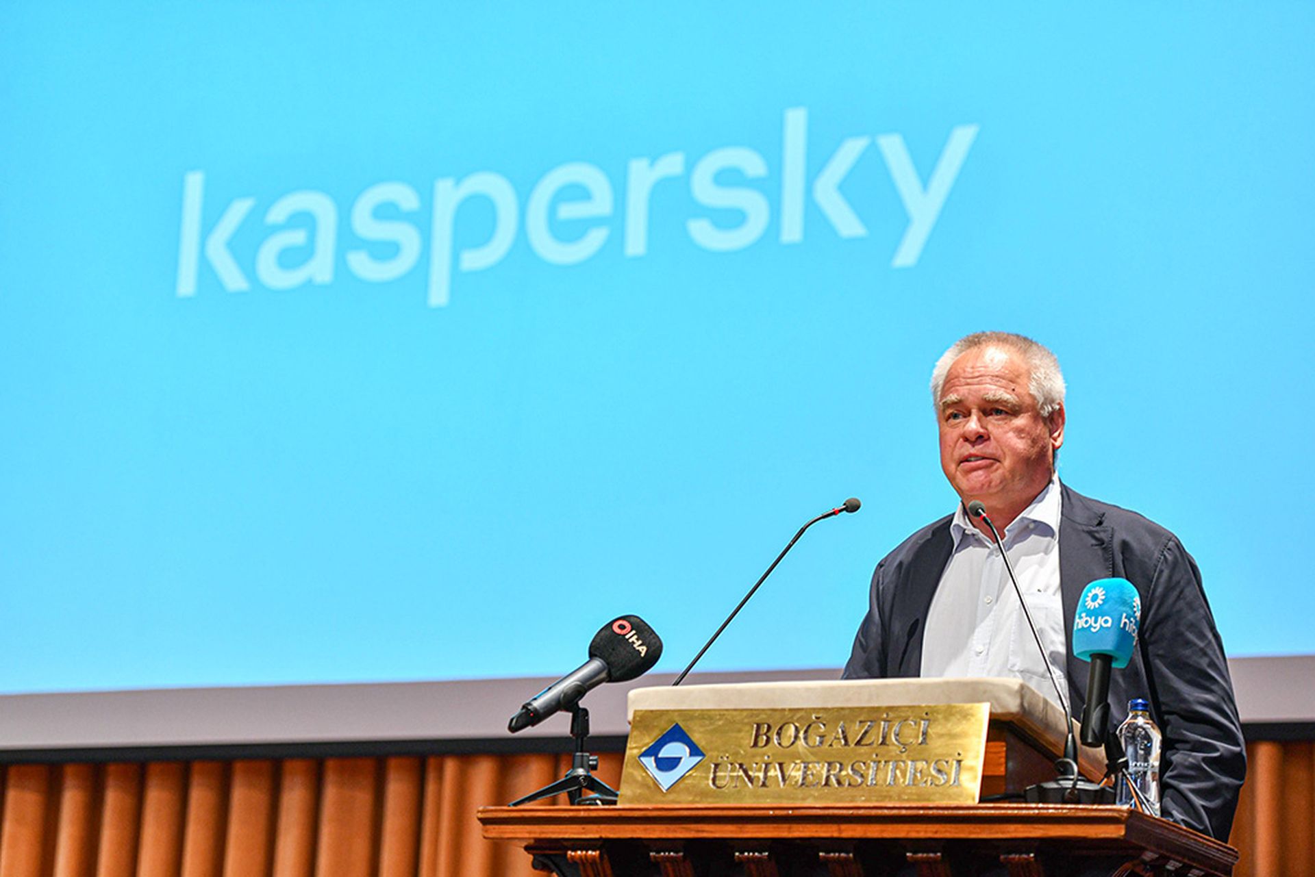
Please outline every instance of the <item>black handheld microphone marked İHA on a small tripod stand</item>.
[{"label": "black handheld microphone marked \u0130HA on a small tripod stand", "polygon": [[589,660],[547,686],[521,706],[506,730],[512,734],[573,709],[604,682],[625,682],[643,676],[661,657],[661,639],[639,615],[608,622],[589,643]]}]

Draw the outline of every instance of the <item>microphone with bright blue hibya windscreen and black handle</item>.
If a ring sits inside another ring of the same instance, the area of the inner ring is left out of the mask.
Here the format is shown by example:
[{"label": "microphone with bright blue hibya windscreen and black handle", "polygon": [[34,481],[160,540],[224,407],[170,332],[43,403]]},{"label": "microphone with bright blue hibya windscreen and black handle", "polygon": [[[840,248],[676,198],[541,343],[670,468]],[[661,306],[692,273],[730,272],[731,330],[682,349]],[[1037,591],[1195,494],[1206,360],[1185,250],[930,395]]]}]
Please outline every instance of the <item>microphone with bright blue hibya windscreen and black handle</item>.
[{"label": "microphone with bright blue hibya windscreen and black handle", "polygon": [[1110,668],[1132,660],[1141,597],[1127,579],[1097,579],[1082,589],[1073,615],[1073,653],[1091,663],[1082,706],[1082,746],[1103,746],[1110,724]]}]

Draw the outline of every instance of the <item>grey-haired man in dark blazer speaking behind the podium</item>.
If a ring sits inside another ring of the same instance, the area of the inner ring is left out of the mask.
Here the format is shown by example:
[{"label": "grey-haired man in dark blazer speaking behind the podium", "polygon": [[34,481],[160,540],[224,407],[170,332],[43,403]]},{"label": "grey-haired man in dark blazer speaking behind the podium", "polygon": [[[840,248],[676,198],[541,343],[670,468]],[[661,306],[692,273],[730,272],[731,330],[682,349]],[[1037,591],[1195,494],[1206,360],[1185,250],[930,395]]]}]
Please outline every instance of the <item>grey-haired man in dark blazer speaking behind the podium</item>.
[{"label": "grey-haired man in dark blazer speaking behind the podium", "polygon": [[[968,335],[936,363],[931,394],[940,467],[960,504],[877,564],[844,677],[1011,676],[1053,699],[1048,661],[1081,714],[1086,665],[1068,642],[1078,594],[1095,579],[1127,579],[1143,611],[1136,652],[1112,675],[1112,723],[1130,698],[1151,701],[1164,734],[1162,815],[1227,840],[1247,756],[1197,564],[1164,527],[1060,483],[1064,376],[1041,344]],[[967,513],[974,500],[1001,531],[1044,657],[986,525]]]}]

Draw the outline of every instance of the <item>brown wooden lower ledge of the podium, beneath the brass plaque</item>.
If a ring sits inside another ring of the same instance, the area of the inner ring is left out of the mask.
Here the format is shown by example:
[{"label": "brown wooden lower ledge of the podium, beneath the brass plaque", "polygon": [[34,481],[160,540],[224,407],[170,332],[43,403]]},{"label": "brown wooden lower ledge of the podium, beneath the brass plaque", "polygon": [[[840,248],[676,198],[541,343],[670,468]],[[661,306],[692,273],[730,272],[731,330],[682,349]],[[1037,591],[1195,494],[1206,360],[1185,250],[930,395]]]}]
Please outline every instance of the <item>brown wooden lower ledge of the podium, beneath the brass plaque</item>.
[{"label": "brown wooden lower ledge of the podium, beneath the brass plaque", "polygon": [[485,807],[484,836],[581,877],[1231,874],[1237,851],[1123,807]]}]

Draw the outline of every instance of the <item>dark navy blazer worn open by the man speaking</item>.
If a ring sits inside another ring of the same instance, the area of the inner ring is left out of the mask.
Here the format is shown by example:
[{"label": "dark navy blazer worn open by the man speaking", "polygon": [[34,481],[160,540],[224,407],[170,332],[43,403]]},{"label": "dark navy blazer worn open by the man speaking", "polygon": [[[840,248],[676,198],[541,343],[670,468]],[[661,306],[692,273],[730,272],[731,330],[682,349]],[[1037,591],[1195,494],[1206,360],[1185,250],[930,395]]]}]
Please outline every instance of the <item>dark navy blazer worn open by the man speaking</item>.
[{"label": "dark navy blazer worn open by the man speaking", "polygon": [[[1162,814],[1227,840],[1247,774],[1247,751],[1223,643],[1197,564],[1164,527],[1061,488],[1064,617],[1073,618],[1088,582],[1110,576],[1131,581],[1144,607],[1132,660],[1111,673],[1111,728],[1127,717],[1130,698],[1149,699],[1164,734]],[[927,610],[953,547],[949,521],[923,527],[877,564],[846,678],[919,675]],[[1070,625],[1066,635],[1069,698],[1080,717],[1090,665],[1073,656]]]}]

